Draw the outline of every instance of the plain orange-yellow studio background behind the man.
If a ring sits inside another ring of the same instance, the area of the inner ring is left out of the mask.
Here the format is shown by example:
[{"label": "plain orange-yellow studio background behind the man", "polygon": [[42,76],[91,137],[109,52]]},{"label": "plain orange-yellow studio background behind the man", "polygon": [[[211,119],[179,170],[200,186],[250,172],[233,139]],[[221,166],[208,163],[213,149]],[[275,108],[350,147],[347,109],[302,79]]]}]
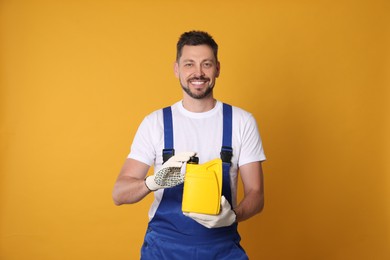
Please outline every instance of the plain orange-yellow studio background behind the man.
[{"label": "plain orange-yellow studio background behind the man", "polygon": [[181,98],[191,29],[220,45],[216,97],[264,141],[250,258],[390,259],[389,7],[2,0],[0,259],[139,258],[152,196],[116,207],[111,191],[143,117]]}]

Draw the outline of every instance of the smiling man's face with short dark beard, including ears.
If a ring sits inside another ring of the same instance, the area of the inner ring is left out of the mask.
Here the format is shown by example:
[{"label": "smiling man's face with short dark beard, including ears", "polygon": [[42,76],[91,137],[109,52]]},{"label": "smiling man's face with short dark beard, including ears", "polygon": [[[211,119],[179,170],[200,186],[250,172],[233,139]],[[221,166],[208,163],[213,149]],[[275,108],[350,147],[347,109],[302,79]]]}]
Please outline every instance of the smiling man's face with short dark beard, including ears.
[{"label": "smiling man's face with short dark beard, including ears", "polygon": [[195,99],[211,95],[219,69],[219,62],[208,45],[185,45],[179,61],[175,63],[175,75],[181,87]]}]

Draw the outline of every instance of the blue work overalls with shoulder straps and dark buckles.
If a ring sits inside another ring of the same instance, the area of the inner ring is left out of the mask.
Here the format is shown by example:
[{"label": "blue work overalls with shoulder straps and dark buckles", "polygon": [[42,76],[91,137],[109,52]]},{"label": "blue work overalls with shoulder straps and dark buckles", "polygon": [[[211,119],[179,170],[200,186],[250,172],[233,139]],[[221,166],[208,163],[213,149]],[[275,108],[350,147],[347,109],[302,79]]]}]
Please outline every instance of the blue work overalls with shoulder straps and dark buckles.
[{"label": "blue work overalls with shoulder straps and dark buckles", "polygon": [[[171,107],[163,109],[163,161],[174,155]],[[232,158],[232,107],[223,104],[221,159],[223,167],[222,195],[232,205],[230,165]],[[160,205],[149,222],[141,259],[248,259],[240,246],[237,223],[228,227],[206,228],[183,215],[183,184],[164,189]]]}]

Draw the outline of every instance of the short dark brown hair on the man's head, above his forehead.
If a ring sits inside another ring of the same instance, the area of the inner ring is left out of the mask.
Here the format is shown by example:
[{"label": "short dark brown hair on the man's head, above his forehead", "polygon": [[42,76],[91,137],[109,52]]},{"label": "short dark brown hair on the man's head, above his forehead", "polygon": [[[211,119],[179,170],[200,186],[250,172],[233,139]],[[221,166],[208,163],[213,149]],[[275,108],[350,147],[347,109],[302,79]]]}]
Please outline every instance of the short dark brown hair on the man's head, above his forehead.
[{"label": "short dark brown hair on the man's head, above his forehead", "polygon": [[179,61],[185,45],[197,46],[203,44],[211,47],[214,52],[215,59],[218,61],[218,44],[214,41],[210,34],[203,31],[189,31],[180,36],[176,46],[176,61]]}]

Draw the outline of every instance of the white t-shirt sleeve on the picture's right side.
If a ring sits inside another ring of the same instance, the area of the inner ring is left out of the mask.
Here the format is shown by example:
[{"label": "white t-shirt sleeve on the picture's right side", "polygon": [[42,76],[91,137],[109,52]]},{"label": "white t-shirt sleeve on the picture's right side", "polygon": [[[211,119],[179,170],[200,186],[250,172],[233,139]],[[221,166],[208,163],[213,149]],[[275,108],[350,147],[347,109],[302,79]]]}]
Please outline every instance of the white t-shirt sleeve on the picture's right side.
[{"label": "white t-shirt sleeve on the picture's right side", "polygon": [[263,143],[255,118],[250,114],[244,123],[239,166],[247,163],[265,161]]}]

